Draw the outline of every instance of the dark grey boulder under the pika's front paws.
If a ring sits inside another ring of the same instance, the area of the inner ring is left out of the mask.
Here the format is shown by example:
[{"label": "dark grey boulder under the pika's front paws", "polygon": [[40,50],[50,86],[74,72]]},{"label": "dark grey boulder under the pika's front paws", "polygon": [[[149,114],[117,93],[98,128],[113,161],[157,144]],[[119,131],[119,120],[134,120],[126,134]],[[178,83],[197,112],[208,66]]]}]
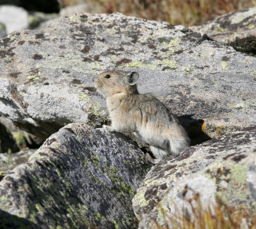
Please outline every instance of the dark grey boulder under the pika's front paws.
[{"label": "dark grey boulder under the pika's front paws", "polygon": [[150,166],[125,135],[68,124],[3,178],[0,209],[37,228],[136,228],[131,200]]}]

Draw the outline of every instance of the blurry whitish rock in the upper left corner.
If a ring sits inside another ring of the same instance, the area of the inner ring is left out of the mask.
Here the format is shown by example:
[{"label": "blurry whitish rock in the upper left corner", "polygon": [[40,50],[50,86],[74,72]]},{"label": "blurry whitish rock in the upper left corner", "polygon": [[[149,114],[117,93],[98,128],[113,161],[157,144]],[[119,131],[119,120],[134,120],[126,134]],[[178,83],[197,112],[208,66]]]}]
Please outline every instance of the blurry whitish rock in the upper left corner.
[{"label": "blurry whitish rock in the upper left corner", "polygon": [[13,31],[28,29],[28,12],[17,6],[0,6],[0,22],[5,25],[7,34]]}]

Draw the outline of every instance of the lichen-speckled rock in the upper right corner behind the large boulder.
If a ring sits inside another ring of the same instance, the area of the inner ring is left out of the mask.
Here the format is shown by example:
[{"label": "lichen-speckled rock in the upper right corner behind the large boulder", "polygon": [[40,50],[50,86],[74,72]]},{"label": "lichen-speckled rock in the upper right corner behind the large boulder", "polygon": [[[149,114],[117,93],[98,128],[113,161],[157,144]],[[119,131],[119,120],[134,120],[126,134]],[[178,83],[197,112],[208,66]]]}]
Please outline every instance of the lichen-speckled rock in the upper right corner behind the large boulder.
[{"label": "lichen-speckled rock in the upper right corner behind the large boulder", "polygon": [[189,29],[205,33],[214,41],[256,55],[256,6],[221,15],[211,22],[191,26]]}]

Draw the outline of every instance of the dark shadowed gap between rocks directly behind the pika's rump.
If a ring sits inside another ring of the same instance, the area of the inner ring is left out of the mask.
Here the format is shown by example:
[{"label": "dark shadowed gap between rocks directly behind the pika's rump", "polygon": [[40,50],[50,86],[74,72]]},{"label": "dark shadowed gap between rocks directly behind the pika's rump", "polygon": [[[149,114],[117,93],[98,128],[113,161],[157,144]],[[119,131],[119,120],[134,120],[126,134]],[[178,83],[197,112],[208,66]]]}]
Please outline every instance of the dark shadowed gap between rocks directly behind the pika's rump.
[{"label": "dark shadowed gap between rocks directly behind the pika's rump", "polygon": [[202,131],[202,126],[204,124],[203,119],[193,119],[193,115],[182,115],[178,117],[180,124],[188,132],[188,136],[191,140],[190,145],[198,145],[211,138],[209,135]]}]

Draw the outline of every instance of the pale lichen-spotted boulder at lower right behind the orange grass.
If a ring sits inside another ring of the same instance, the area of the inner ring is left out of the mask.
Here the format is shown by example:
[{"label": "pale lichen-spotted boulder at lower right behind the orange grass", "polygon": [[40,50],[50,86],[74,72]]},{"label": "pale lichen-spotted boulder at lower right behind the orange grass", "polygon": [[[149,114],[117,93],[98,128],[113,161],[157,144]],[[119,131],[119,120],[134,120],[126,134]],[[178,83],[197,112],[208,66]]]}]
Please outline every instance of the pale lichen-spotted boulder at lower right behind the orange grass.
[{"label": "pale lichen-spotted boulder at lower right behind the orange grass", "polygon": [[255,175],[256,127],[190,147],[148,172],[132,200],[139,228],[157,228],[153,219],[160,225],[165,221],[161,209],[166,214],[182,212],[188,207],[186,200],[195,193],[200,193],[205,207],[214,204],[214,197],[218,197],[233,207],[253,208]]}]

